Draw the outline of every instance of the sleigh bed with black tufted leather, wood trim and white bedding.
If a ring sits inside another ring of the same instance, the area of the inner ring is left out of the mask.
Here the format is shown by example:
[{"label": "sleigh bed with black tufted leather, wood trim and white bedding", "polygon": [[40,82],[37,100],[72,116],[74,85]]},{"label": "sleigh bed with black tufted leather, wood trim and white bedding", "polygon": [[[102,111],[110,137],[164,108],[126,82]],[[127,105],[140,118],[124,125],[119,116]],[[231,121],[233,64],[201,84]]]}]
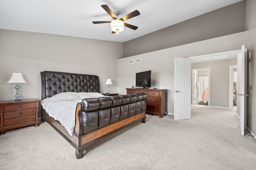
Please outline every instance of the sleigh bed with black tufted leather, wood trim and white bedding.
[{"label": "sleigh bed with black tufted leather, wood trim and white bedding", "polygon": [[[145,93],[104,96],[99,77],[88,74],[43,71],[41,82],[42,122],[48,122],[76,149],[77,159],[102,137],[137,121],[146,122]],[[72,125],[67,127],[62,119]]]}]

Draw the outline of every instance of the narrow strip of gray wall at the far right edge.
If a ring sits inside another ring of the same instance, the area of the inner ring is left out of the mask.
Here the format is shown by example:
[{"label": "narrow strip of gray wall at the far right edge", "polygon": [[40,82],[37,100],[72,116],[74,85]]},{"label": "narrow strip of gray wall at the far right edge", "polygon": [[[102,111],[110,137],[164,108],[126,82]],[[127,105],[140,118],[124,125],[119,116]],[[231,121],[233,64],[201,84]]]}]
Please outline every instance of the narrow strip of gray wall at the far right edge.
[{"label": "narrow strip of gray wall at the far right edge", "polygon": [[[256,0],[246,0],[246,29],[248,31],[248,52],[250,53],[250,97],[248,127],[256,135]],[[254,137],[255,138],[255,137]]]}]

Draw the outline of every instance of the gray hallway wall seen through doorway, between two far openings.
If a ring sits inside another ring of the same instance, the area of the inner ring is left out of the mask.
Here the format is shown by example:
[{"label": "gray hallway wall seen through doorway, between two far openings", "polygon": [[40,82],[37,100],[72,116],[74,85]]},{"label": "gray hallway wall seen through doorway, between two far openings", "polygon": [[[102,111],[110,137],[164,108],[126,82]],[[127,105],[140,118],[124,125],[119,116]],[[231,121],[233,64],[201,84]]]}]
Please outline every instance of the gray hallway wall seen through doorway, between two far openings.
[{"label": "gray hallway wall seen through doorway, between two far openings", "polygon": [[210,68],[210,106],[229,108],[230,65],[237,64],[237,59],[193,63],[191,68]]}]

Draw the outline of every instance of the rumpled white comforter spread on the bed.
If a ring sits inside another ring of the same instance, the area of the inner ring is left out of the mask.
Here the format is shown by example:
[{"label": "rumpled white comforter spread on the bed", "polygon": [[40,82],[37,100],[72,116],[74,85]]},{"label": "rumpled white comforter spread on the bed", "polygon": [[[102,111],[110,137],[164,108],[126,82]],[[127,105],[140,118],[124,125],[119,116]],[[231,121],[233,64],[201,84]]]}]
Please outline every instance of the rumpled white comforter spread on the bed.
[{"label": "rumpled white comforter spread on the bed", "polygon": [[70,135],[75,127],[76,104],[84,98],[98,98],[104,96],[95,92],[63,92],[41,101],[42,107],[50,117],[58,120]]}]

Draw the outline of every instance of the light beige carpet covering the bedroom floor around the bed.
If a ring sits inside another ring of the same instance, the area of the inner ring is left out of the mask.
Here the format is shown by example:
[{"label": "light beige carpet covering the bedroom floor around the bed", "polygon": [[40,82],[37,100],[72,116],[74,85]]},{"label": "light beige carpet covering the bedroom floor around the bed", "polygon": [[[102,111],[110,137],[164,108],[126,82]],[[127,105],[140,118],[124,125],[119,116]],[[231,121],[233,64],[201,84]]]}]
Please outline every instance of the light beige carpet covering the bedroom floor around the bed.
[{"label": "light beige carpet covering the bedroom floor around the bed", "polygon": [[241,136],[239,119],[227,109],[192,106],[192,118],[174,121],[146,115],[85,149],[75,149],[48,123],[0,136],[1,170],[255,170],[256,141]]}]

